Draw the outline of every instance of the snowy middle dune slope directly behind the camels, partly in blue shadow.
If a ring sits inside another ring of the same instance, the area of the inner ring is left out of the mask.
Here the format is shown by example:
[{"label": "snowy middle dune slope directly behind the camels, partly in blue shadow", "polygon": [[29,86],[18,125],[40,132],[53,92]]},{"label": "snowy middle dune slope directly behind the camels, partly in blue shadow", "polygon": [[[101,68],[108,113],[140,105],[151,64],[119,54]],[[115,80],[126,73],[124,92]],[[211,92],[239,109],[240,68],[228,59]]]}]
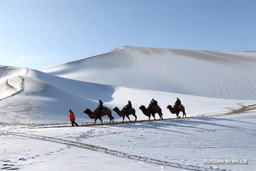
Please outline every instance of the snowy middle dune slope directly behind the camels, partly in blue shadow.
[{"label": "snowy middle dune slope directly behind the camels, partly in blue shadow", "polygon": [[[222,114],[222,111],[228,111],[230,108],[240,108],[241,103],[246,106],[255,104],[253,100],[218,99],[77,81],[19,67],[1,66],[0,69],[1,122],[67,123],[69,109],[77,114],[77,122],[92,122],[93,120],[86,114],[78,113],[86,108],[94,110],[98,100],[102,100],[111,110],[115,106],[122,108],[128,100],[131,100],[133,107],[137,110],[137,120],[148,119],[139,107],[147,106],[151,98],[158,101],[163,118],[175,118],[175,115],[171,114],[166,107],[169,104],[173,105],[176,97],[179,97],[184,104],[187,117],[209,113]],[[10,95],[4,89],[7,78],[8,82],[17,89],[14,94]],[[112,116],[114,121],[122,120],[114,111]],[[134,120],[133,116],[130,118]],[[158,115],[156,119],[159,119]],[[104,116],[103,120],[108,121],[109,118]]]}]

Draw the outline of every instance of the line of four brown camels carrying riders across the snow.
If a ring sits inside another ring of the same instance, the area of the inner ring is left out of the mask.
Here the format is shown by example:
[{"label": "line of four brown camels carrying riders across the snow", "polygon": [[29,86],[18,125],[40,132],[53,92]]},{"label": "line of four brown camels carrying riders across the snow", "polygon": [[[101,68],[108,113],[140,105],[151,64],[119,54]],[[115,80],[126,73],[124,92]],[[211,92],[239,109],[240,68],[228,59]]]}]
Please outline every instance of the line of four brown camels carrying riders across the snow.
[{"label": "line of four brown camels carrying riders across the snow", "polygon": [[[157,113],[159,115],[159,120],[163,120],[163,113],[162,113],[162,109],[159,107],[159,105],[157,104],[157,101],[154,100],[152,98],[152,100],[150,101],[149,106],[146,108],[145,106],[140,106],[139,109],[142,111],[142,113],[146,116],[148,116],[148,120],[150,120],[150,117],[153,116],[153,118],[155,119],[155,114]],[[186,118],[186,113],[185,113],[185,107],[181,104],[181,101],[179,100],[179,98],[177,98],[175,104],[172,105],[168,105],[167,109],[169,109],[169,111],[172,114],[176,114],[177,118],[181,118],[179,116],[180,112],[183,112],[183,118],[185,116]],[[116,114],[120,117],[123,117],[123,122],[124,123],[124,118],[128,118],[130,122],[132,122],[130,120],[129,115],[132,115],[135,117],[134,122],[136,122],[137,120],[137,116],[135,114],[136,110],[134,108],[132,108],[132,103],[129,100],[128,104],[125,105],[121,110],[118,107],[113,108],[113,111],[116,112]],[[83,113],[87,114],[89,116],[89,118],[94,119],[94,124],[96,123],[96,120],[99,118],[99,120],[102,119],[102,116],[108,116],[110,119],[110,124],[111,121],[112,123],[114,123],[114,117],[112,116],[111,110],[108,109],[107,107],[103,106],[103,102],[101,100],[99,100],[99,105],[95,108],[95,110],[92,112],[90,109],[86,109],[85,111],[83,111]],[[156,119],[155,119],[156,120]],[[72,124],[73,125],[73,124]]]}]

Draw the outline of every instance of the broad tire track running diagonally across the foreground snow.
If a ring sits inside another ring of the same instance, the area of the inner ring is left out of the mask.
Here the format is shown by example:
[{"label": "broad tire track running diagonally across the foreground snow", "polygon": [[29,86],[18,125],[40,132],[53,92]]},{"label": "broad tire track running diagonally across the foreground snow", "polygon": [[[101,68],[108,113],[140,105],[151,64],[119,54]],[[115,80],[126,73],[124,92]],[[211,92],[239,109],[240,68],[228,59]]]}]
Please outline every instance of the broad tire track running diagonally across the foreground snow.
[{"label": "broad tire track running diagonally across the foreground snow", "polygon": [[34,135],[34,134],[25,134],[25,133],[8,132],[8,131],[1,131],[1,134],[12,135],[12,136],[21,136],[21,137],[26,137],[26,138],[36,139],[36,140],[43,140],[43,141],[49,141],[49,142],[54,142],[54,143],[58,143],[58,144],[65,144],[68,146],[74,146],[74,147],[92,150],[92,151],[96,151],[96,152],[103,152],[105,154],[110,154],[113,156],[126,158],[126,159],[130,159],[130,160],[146,162],[149,164],[154,164],[154,165],[159,165],[159,166],[167,166],[167,167],[174,167],[174,168],[179,168],[179,169],[184,169],[184,170],[197,170],[197,171],[224,171],[224,170],[226,171],[226,169],[203,168],[203,167],[198,167],[198,166],[178,164],[178,163],[172,163],[172,162],[167,162],[167,161],[163,161],[163,160],[146,158],[146,157],[142,157],[142,156],[136,156],[136,155],[124,153],[121,151],[110,150],[108,148],[103,148],[100,146],[94,146],[94,145],[85,144],[85,143],[81,143],[81,142],[73,142],[73,141],[69,141],[69,140],[63,140],[63,139],[53,138],[53,137],[48,137],[48,136],[39,136],[39,135]]}]

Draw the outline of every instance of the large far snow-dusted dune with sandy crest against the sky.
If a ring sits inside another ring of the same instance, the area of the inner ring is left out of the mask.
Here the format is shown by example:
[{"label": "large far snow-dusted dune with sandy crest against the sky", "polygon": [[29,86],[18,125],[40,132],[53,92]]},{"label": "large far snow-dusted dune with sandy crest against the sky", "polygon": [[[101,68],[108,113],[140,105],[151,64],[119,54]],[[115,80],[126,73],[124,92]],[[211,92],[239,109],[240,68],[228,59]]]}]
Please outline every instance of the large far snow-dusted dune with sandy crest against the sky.
[{"label": "large far snow-dusted dune with sandy crest against the sky", "polygon": [[120,47],[40,69],[94,83],[223,99],[255,100],[255,52]]}]

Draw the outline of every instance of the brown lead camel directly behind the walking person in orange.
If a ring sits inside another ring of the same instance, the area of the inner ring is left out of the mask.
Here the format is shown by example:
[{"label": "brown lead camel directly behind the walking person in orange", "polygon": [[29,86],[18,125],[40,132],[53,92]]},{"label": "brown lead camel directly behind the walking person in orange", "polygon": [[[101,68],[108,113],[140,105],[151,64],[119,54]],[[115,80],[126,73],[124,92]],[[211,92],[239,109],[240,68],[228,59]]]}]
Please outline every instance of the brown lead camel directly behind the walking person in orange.
[{"label": "brown lead camel directly behind the walking person in orange", "polygon": [[[86,109],[85,111],[83,111],[85,114],[87,114],[89,116],[89,118],[91,119],[94,119],[94,125],[95,125],[95,122],[96,120],[99,118],[101,120],[101,123],[103,124],[102,122],[102,119],[101,117],[102,116],[105,116],[105,115],[108,115],[109,119],[110,119],[110,122],[109,124],[111,123],[111,120],[113,120],[113,123],[114,123],[114,117],[112,116],[111,114],[111,110],[109,110],[108,108],[104,107],[102,109],[103,111],[100,113],[99,111],[99,108],[97,107],[93,112],[90,110],[90,109]],[[104,111],[105,110],[105,111]]]}]

